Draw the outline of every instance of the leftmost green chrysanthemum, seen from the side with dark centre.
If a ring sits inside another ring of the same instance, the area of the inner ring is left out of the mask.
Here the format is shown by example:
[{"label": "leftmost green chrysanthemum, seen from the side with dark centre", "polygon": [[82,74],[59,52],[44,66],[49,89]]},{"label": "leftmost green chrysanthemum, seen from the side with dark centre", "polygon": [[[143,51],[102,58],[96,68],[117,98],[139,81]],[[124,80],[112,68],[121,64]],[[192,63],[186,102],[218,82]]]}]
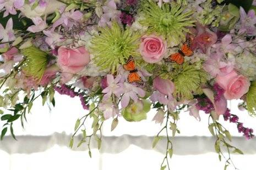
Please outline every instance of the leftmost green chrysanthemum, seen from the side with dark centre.
[{"label": "leftmost green chrysanthemum, seen from the side with dark centre", "polygon": [[21,53],[26,58],[23,65],[25,73],[40,81],[48,64],[48,54],[34,46],[22,49]]}]

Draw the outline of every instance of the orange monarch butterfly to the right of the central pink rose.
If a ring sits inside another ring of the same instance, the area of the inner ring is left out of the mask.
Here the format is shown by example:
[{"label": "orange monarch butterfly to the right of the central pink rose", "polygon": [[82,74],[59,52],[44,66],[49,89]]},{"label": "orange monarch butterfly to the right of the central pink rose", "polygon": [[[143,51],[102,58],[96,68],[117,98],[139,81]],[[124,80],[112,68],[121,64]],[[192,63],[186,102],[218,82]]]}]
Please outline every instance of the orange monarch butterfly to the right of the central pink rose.
[{"label": "orange monarch butterfly to the right of the central pink rose", "polygon": [[190,48],[191,40],[188,39],[183,43],[181,49],[178,50],[178,53],[171,54],[167,59],[164,59],[165,62],[176,62],[177,64],[184,63],[184,56],[192,56],[194,54],[193,50]]}]

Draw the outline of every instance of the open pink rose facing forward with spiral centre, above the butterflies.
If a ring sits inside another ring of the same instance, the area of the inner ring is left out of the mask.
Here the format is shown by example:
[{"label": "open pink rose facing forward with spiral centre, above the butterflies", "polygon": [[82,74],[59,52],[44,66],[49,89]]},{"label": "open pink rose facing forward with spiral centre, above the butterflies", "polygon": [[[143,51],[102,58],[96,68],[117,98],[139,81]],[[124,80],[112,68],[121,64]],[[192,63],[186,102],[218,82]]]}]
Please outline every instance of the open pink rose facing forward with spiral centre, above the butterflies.
[{"label": "open pink rose facing forward with spiral centre, above the butterflies", "polygon": [[147,63],[157,63],[164,58],[167,43],[161,37],[143,36],[140,43],[140,54]]}]

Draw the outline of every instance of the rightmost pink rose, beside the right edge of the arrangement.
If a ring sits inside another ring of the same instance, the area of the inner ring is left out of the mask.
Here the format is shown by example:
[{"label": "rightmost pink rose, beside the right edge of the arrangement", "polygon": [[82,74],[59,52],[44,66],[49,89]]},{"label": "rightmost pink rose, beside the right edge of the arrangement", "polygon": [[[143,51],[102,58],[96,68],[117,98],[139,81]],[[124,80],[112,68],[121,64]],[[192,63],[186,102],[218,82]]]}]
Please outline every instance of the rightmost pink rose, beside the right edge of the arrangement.
[{"label": "rightmost pink rose, beside the right edge of the arrangement", "polygon": [[250,87],[250,81],[243,75],[232,71],[225,76],[218,75],[217,83],[225,90],[224,96],[228,100],[239,99],[246,94]]}]

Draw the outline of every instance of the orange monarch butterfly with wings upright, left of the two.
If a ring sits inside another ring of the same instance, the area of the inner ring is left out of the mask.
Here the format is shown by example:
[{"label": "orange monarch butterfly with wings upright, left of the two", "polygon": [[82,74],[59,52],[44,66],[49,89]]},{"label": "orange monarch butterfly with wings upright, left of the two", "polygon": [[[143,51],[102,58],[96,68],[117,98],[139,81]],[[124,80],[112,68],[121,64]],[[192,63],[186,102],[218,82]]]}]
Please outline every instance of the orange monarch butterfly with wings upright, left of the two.
[{"label": "orange monarch butterfly with wings upright, left of the two", "polygon": [[130,72],[127,78],[129,83],[143,84],[142,78],[139,76],[138,70],[135,68],[135,61],[132,56],[129,56],[126,64],[123,65],[123,69]]}]

